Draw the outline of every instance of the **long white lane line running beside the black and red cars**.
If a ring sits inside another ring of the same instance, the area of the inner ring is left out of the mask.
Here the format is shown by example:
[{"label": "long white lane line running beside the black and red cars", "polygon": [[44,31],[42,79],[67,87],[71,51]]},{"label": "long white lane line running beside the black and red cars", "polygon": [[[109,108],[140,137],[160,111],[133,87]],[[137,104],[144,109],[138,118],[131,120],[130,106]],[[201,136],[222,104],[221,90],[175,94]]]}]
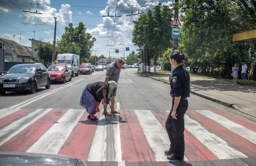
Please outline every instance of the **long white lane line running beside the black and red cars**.
[{"label": "long white lane line running beside the black and red cars", "polygon": [[[52,90],[52,91],[50,91],[50,92],[44,93],[44,94],[42,94],[42,95],[36,96],[36,97],[34,97],[34,98],[32,98],[32,99],[26,100],[26,101],[24,101],[24,102],[22,102],[22,103],[20,103],[20,104],[17,104],[17,105],[15,105],[15,106],[12,106],[12,107],[10,107],[10,108],[18,108],[18,109],[19,109],[19,108],[22,108],[22,107],[24,107],[24,106],[26,106],[26,105],[29,105],[29,104],[31,104],[31,103],[33,103],[33,102],[39,100],[39,99],[42,99],[43,97],[46,97],[46,96],[48,96],[48,95],[50,95],[50,94],[52,94],[52,93],[55,93],[55,92],[57,92],[57,91],[59,91],[59,90],[65,88],[65,87],[71,86],[71,85],[73,85],[73,84],[75,84],[75,83],[77,83],[77,82],[79,82],[79,81],[81,81],[81,80],[83,80],[83,79],[85,79],[85,78],[81,78],[81,79],[79,79],[79,80],[77,80],[77,81],[75,81],[75,82],[72,82],[72,83],[68,84],[68,85],[65,85],[65,86],[63,86],[63,87],[57,88],[57,89]],[[33,100],[33,99],[34,99],[34,100]]]}]

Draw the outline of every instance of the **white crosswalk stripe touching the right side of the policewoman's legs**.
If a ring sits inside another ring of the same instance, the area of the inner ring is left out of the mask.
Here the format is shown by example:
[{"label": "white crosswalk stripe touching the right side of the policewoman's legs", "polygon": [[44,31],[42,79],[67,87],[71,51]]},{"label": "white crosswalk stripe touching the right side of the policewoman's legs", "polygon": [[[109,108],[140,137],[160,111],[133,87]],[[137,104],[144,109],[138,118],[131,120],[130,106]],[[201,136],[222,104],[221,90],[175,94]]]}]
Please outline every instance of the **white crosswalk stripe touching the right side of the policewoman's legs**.
[{"label": "white crosswalk stripe touching the right side of the policewoman's legs", "polygon": [[245,158],[245,154],[231,147],[223,139],[204,128],[201,124],[184,115],[185,128],[219,159]]}]

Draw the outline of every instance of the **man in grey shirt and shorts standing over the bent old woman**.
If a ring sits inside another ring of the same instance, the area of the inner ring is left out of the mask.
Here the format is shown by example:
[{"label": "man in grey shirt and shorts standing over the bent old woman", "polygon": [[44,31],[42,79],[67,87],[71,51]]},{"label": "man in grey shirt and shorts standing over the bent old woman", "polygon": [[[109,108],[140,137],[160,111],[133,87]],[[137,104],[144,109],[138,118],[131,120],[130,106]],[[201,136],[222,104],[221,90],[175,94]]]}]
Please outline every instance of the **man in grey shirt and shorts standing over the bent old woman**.
[{"label": "man in grey shirt and shorts standing over the bent old woman", "polygon": [[[121,67],[124,65],[124,60],[122,58],[117,59],[116,61],[112,62],[109,64],[107,68],[107,73],[105,77],[105,82],[108,81],[115,81],[116,83],[118,82],[120,72],[121,72]],[[112,97],[110,99],[111,103],[111,113],[113,114],[120,114],[120,112],[115,111],[115,96],[116,96],[116,91],[117,88],[113,89],[111,91]],[[107,110],[107,104],[104,105],[105,109]]]}]

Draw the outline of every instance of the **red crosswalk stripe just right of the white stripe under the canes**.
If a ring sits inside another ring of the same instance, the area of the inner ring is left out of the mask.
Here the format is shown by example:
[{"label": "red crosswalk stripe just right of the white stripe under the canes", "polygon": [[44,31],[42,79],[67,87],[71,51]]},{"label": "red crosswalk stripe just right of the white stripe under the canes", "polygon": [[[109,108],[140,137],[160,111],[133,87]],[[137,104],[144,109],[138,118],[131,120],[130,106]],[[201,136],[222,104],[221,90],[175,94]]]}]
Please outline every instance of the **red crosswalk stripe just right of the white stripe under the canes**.
[{"label": "red crosswalk stripe just right of the white stripe under the canes", "polygon": [[122,160],[146,162],[155,161],[154,154],[143,133],[134,110],[123,110],[121,112],[122,120],[119,120],[119,128]]}]

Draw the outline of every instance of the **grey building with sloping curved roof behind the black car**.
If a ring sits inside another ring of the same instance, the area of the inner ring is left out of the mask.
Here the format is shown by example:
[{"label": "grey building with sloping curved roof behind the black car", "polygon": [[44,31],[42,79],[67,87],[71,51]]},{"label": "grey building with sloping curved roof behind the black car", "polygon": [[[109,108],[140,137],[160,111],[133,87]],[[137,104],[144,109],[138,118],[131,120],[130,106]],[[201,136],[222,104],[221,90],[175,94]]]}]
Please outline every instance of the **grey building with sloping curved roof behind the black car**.
[{"label": "grey building with sloping curved roof behind the black car", "polygon": [[29,62],[31,47],[4,38],[0,38],[0,43],[1,47],[5,49],[4,59],[10,62]]}]

